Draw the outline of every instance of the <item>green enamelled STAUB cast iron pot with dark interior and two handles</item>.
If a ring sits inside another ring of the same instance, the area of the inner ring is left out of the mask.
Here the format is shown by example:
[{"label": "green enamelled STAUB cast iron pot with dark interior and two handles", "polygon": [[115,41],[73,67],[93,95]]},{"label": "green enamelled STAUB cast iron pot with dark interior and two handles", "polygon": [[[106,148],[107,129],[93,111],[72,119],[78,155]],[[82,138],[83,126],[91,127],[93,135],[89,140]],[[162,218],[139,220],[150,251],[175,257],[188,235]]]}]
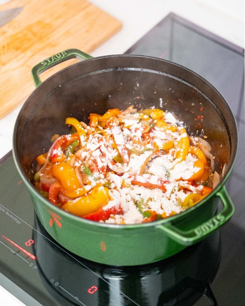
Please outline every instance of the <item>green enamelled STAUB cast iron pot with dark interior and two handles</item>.
[{"label": "green enamelled STAUB cast iron pot with dark interior and two handles", "polygon": [[[41,82],[39,73],[70,58],[86,61],[70,65]],[[124,54],[92,58],[80,50],[69,49],[36,65],[32,77],[36,89],[18,115],[13,156],[40,222],[59,244],[98,263],[141,265],[180,252],[231,218],[234,206],[224,183],[236,158],[236,121],[224,98],[201,76],[149,56]],[[108,109],[123,110],[129,105],[138,109],[152,106],[168,109],[187,124],[188,134],[207,136],[220,176],[226,164],[225,175],[211,194],[194,207],[167,219],[112,225],[69,214],[36,191],[32,184],[36,157],[48,151],[52,135],[69,133],[64,124],[66,117],[88,122],[89,113],[103,114]],[[223,206],[215,215],[218,200]]]}]

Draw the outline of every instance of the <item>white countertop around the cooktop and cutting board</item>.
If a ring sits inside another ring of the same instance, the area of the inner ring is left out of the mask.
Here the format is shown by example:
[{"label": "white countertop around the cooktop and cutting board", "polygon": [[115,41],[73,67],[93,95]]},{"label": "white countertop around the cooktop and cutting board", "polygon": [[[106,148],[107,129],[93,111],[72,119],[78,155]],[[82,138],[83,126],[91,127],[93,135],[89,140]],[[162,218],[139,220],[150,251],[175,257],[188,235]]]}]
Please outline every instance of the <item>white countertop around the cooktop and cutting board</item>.
[{"label": "white countertop around the cooktop and cutting board", "polygon": [[[0,0],[0,4],[4,2],[7,0]],[[170,12],[244,48],[243,0],[90,0],[90,2],[123,23],[120,32],[91,53],[94,57],[124,53]],[[0,120],[0,158],[12,149],[13,126],[20,108]],[[25,304],[0,286],[0,305]]]}]

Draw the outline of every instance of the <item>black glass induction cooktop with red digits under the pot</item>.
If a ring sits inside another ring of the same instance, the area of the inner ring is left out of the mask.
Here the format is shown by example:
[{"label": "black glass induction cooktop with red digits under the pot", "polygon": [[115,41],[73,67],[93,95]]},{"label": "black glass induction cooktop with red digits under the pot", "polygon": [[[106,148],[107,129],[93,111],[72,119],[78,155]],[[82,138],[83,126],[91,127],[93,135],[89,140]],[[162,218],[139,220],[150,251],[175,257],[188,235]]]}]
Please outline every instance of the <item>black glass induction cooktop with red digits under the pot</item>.
[{"label": "black glass induction cooktop with red digits under the pot", "polygon": [[126,53],[186,66],[227,100],[239,130],[226,183],[235,214],[206,240],[160,262],[93,263],[63,249],[43,229],[10,152],[0,164],[0,284],[32,306],[244,305],[244,50],[170,14]]}]

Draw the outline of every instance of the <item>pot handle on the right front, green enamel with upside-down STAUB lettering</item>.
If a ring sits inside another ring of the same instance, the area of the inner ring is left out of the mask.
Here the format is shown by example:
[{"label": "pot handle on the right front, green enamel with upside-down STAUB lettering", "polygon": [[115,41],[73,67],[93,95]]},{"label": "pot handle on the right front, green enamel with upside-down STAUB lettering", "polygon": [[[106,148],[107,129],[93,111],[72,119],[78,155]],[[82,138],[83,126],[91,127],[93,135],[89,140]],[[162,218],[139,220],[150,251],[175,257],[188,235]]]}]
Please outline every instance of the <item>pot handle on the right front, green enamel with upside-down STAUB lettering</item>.
[{"label": "pot handle on the right front, green enamel with upside-down STAUB lettering", "polygon": [[227,222],[234,213],[234,205],[226,191],[225,186],[216,192],[214,196],[220,198],[224,208],[217,215],[213,216],[208,221],[198,225],[197,227],[188,231],[183,231],[175,227],[173,224],[171,224],[171,222],[156,227],[164,231],[168,237],[181,245],[192,245],[198,241],[201,241]]}]

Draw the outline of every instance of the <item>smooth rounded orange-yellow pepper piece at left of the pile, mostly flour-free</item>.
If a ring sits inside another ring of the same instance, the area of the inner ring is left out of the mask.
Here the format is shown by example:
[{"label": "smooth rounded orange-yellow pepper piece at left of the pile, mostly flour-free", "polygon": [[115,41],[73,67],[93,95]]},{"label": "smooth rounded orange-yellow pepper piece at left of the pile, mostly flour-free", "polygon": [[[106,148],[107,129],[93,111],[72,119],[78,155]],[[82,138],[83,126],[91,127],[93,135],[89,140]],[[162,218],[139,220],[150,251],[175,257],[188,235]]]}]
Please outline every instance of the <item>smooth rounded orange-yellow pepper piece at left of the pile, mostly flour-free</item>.
[{"label": "smooth rounded orange-yellow pepper piece at left of the pile, mostly flour-free", "polygon": [[67,163],[60,162],[55,164],[52,168],[52,173],[67,191],[75,191],[81,187],[75,170]]}]

